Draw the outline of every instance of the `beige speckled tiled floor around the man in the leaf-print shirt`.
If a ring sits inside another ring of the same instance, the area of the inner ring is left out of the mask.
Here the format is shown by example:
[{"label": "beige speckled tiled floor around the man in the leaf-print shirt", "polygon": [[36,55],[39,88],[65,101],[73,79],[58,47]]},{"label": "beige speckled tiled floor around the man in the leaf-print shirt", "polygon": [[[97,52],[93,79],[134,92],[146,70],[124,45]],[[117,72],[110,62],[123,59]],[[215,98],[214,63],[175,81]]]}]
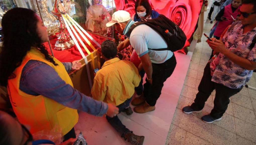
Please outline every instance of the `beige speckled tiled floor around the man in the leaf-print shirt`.
[{"label": "beige speckled tiled floor around the man in the leaf-print shirt", "polygon": [[[206,22],[204,33],[209,34],[212,24]],[[211,48],[202,37],[196,45],[187,72],[184,86],[179,97],[172,124],[166,139],[170,144],[236,144],[256,145],[256,91],[244,87],[230,99],[230,104],[221,121],[207,124],[201,121],[203,115],[213,108],[215,92],[206,102],[202,113],[185,114],[182,108],[195,99],[197,87],[204,67],[211,55]],[[256,87],[256,73],[248,85]]]}]

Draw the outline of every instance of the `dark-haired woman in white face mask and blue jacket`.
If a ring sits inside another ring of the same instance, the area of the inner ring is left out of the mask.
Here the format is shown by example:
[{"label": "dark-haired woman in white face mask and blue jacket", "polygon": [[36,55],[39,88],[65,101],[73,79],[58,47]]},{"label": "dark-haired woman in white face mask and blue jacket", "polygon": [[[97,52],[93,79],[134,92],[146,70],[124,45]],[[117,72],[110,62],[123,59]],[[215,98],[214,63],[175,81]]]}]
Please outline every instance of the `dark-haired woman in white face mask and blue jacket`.
[{"label": "dark-haired woman in white face mask and blue jacket", "polygon": [[143,21],[144,19],[154,19],[159,16],[159,13],[152,10],[147,0],[137,0],[135,3],[135,14],[132,20]]}]

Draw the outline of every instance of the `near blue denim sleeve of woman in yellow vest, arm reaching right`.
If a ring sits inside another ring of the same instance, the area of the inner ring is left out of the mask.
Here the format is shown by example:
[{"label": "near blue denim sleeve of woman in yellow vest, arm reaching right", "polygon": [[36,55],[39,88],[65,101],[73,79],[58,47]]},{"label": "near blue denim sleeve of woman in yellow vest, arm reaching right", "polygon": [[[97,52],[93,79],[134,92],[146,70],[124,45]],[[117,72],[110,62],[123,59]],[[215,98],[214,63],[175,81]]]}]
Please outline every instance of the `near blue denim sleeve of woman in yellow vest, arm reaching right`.
[{"label": "near blue denim sleeve of woman in yellow vest, arm reaching right", "polygon": [[19,88],[27,94],[32,91],[95,116],[102,116],[108,110],[106,103],[80,93],[66,84],[52,67],[37,60],[30,60],[23,68]]}]

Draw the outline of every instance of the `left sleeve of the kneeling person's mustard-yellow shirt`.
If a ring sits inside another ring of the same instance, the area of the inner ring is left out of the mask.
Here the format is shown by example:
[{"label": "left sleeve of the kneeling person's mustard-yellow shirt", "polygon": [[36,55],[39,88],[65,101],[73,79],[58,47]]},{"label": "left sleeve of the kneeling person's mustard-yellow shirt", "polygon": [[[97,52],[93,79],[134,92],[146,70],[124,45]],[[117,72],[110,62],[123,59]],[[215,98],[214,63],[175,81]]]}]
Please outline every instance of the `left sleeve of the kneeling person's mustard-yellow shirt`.
[{"label": "left sleeve of the kneeling person's mustard-yellow shirt", "polygon": [[[102,79],[103,80],[103,79]],[[92,98],[95,100],[103,101],[106,96],[106,85],[104,82],[100,82],[96,79],[93,80],[93,86],[91,89]]]}]

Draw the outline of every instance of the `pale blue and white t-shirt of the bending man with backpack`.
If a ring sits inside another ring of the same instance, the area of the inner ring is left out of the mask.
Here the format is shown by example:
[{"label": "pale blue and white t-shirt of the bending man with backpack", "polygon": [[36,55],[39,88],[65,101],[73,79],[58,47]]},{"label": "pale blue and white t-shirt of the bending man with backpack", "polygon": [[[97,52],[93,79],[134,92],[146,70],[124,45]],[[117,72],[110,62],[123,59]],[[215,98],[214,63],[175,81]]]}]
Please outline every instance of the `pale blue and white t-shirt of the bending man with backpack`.
[{"label": "pale blue and white t-shirt of the bending man with backpack", "polygon": [[135,27],[129,40],[138,56],[141,57],[148,53],[152,63],[164,63],[173,56],[173,52],[170,50],[155,51],[148,49],[167,48],[167,43],[158,32],[145,24]]}]

